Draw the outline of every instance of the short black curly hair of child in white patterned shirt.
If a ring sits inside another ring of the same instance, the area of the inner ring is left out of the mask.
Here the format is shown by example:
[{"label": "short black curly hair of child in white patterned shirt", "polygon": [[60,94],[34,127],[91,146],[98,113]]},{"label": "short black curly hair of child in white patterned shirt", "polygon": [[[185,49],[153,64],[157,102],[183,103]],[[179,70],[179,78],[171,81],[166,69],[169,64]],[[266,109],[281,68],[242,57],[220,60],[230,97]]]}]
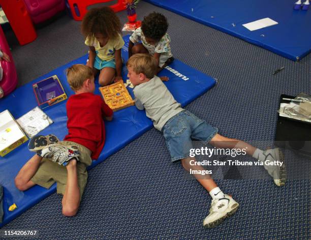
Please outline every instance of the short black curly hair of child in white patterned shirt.
[{"label": "short black curly hair of child in white patterned shirt", "polygon": [[156,41],[159,41],[166,34],[167,28],[167,19],[161,13],[150,13],[141,22],[141,30],[145,37]]}]

